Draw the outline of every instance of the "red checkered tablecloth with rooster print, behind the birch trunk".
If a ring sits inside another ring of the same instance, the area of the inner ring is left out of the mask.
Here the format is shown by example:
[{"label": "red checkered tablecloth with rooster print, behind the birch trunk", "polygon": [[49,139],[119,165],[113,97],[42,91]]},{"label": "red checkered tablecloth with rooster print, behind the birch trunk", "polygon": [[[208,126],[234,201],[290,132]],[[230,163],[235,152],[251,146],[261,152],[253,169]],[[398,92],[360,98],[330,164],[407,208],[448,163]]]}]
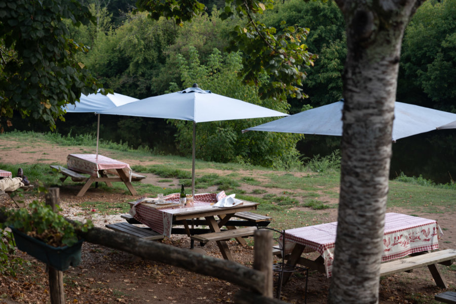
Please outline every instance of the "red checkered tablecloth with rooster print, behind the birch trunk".
[{"label": "red checkered tablecloth with rooster print, behind the birch trunk", "polygon": [[[305,245],[320,253],[325,262],[326,276],[332,272],[337,222],[299,227],[285,231],[285,240]],[[384,251],[382,261],[415,252],[439,248],[443,233],[437,221],[400,213],[385,214]]]}]

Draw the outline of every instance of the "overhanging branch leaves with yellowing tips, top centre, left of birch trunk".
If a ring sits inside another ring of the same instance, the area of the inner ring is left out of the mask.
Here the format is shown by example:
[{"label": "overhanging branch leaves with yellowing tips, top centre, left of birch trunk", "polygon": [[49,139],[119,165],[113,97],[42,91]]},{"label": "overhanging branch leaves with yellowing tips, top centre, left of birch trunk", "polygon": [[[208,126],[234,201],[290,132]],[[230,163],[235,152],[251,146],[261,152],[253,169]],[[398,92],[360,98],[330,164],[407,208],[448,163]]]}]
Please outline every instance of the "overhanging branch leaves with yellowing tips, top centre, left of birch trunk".
[{"label": "overhanging branch leaves with yellowing tips, top centre, left of birch trunk", "polygon": [[[306,96],[299,87],[306,78],[304,68],[312,65],[316,58],[304,44],[309,30],[288,26],[279,34],[276,28],[257,20],[256,16],[272,9],[273,3],[273,0],[265,4],[257,0],[226,1],[220,18],[237,15],[245,20],[243,26],[237,25],[230,32],[229,51],[241,50],[246,54],[238,75],[247,83],[260,86],[261,98],[285,99],[287,95],[300,98]],[[177,24],[191,20],[205,10],[205,6],[196,0],[139,0],[137,5],[156,20],[164,16],[175,19]],[[269,82],[263,81],[265,74],[270,77]]]}]

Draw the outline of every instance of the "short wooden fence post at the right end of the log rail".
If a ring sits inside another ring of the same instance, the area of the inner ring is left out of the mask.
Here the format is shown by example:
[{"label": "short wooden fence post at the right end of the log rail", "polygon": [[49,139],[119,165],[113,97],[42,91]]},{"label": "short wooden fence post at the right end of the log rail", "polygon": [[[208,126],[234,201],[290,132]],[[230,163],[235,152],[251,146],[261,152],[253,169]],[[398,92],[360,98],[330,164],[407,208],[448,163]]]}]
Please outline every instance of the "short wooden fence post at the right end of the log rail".
[{"label": "short wooden fence post at the right end of the log rail", "polygon": [[253,269],[264,273],[264,290],[263,296],[273,297],[273,270],[272,270],[272,231],[259,229],[255,232],[253,247]]}]

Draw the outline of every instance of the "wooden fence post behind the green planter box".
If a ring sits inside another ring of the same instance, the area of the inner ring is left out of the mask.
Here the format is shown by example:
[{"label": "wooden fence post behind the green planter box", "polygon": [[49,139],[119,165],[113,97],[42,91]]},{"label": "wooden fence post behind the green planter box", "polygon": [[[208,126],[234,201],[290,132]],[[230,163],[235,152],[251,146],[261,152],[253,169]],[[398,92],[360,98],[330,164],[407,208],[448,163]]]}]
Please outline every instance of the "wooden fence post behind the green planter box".
[{"label": "wooden fence post behind the green planter box", "polygon": [[[57,212],[60,203],[59,188],[49,188],[46,194],[46,205],[52,206],[52,210]],[[48,265],[49,269],[49,291],[51,294],[51,304],[65,304],[65,290],[63,289],[63,272],[56,270]]]}]

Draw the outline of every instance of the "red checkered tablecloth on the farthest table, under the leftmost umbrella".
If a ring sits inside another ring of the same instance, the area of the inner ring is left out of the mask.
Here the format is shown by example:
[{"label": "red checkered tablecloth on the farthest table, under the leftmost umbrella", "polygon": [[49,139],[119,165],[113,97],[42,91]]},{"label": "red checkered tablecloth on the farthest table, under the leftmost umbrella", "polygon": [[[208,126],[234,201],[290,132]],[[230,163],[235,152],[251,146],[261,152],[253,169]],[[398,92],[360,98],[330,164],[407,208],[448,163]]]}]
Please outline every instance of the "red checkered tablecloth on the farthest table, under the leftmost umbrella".
[{"label": "red checkered tablecloth on the farthest table, under the leftmost umbrella", "polygon": [[102,155],[97,156],[96,154],[70,154],[66,158],[66,165],[70,170],[87,173],[97,177],[99,177],[98,170],[128,168],[131,173],[128,164]]}]

